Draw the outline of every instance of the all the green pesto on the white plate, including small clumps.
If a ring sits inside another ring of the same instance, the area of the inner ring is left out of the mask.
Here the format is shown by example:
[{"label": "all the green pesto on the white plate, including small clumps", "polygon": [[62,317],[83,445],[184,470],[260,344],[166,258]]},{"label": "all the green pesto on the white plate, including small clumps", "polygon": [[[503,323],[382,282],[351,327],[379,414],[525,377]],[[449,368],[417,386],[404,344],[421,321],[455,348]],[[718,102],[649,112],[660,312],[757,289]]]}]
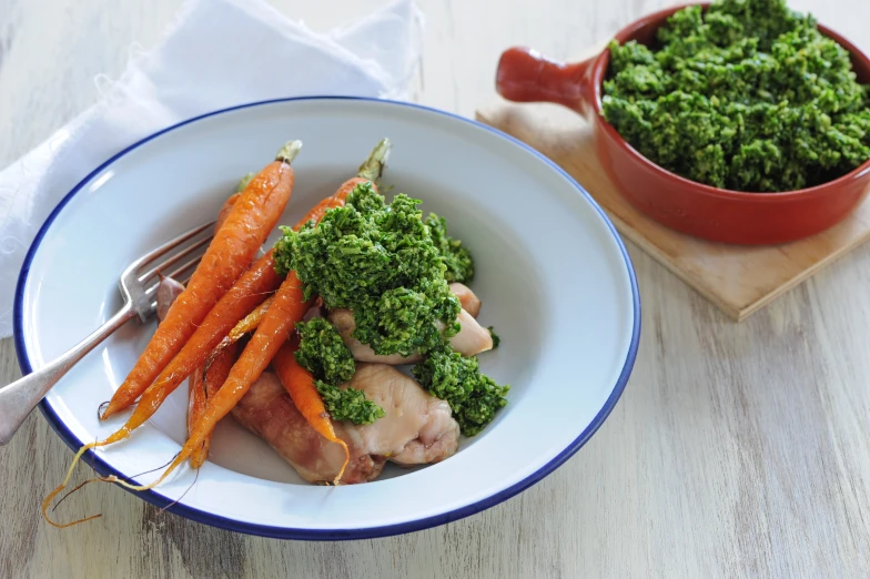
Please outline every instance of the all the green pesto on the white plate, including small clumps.
[{"label": "all the green pesto on the white plate, including small clumps", "polygon": [[[357,185],[345,206],[327,211],[316,226],[281,228],[275,268],[282,275],[295,271],[306,297],[320,295],[327,308],[351,309],[353,336],[376,354],[427,356],[413,368],[414,376],[448,402],[462,433],[473,436],[507,404],[509,386],[497,385],[480,374],[476,357],[465,358],[449,346],[459,329],[461,306],[448,280],[469,281],[474,261],[462,242],[447,235],[443,217],[423,219],[419,203],[398,194],[386,204],[371,183]],[[353,421],[383,416],[361,390],[336,387],[350,379],[348,372],[353,375],[353,358],[337,331],[316,319],[297,327],[296,359],[318,378],[330,415]]]}]

